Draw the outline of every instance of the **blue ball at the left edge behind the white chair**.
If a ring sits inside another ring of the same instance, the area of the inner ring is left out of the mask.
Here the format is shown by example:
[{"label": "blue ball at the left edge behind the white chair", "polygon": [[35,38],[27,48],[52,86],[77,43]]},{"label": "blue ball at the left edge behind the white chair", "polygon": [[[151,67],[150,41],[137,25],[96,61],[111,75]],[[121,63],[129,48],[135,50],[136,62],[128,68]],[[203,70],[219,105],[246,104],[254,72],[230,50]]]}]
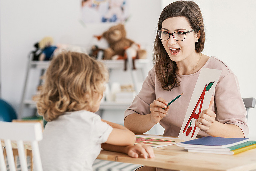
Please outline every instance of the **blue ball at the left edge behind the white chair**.
[{"label": "blue ball at the left edge behind the white chair", "polygon": [[11,122],[13,119],[17,119],[17,114],[4,100],[0,99],[0,121]]}]

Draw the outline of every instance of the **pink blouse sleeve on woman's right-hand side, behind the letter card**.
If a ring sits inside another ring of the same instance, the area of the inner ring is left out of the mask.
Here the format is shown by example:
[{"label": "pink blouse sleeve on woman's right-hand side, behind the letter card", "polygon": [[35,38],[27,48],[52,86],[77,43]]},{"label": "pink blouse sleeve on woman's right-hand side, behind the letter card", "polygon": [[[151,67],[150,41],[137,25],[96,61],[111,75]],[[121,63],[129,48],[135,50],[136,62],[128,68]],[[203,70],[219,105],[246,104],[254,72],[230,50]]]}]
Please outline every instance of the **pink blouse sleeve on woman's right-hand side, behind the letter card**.
[{"label": "pink blouse sleeve on woman's right-hand side, behind the letter card", "polygon": [[246,109],[240,94],[238,79],[233,73],[224,76],[215,88],[217,121],[239,126],[244,136],[248,136]]}]

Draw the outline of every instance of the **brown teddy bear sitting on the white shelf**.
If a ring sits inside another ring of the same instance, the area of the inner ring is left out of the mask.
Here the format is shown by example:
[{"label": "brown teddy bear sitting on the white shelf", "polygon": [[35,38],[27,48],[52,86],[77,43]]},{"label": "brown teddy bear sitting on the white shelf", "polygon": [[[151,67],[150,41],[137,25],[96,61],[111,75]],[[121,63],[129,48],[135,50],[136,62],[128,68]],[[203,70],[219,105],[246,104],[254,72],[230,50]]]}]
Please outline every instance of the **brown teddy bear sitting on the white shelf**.
[{"label": "brown teddy bear sitting on the white shelf", "polygon": [[136,69],[134,60],[146,58],[146,50],[141,49],[134,41],[126,38],[126,31],[123,24],[110,27],[102,34],[106,39],[108,48],[104,49],[103,59],[124,59],[124,70],[127,69],[128,57],[133,61],[133,69]]}]

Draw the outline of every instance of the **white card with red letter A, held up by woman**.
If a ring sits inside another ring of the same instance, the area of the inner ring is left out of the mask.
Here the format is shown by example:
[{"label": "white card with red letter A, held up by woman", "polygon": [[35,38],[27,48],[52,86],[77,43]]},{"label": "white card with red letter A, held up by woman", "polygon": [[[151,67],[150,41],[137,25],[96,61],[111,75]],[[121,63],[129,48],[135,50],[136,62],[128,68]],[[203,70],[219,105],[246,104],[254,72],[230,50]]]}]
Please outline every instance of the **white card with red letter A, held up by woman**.
[{"label": "white card with red letter A, held up by woman", "polygon": [[217,69],[201,69],[178,136],[184,141],[196,138],[200,129],[195,125],[195,121],[203,110],[209,108],[221,72]]}]

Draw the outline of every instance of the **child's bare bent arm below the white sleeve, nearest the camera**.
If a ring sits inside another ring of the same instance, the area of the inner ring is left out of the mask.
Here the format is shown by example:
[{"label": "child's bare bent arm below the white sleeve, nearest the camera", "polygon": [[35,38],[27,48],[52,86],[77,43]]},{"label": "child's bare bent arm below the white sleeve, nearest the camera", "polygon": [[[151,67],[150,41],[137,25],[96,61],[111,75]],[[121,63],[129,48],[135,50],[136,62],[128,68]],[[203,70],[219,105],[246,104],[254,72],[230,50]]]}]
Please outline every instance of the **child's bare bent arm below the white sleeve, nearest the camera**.
[{"label": "child's bare bent arm below the white sleeve, nearest the camera", "polygon": [[106,122],[111,127],[113,127],[113,130],[110,133],[108,140],[106,141],[107,144],[118,145],[118,146],[128,146],[128,145],[133,145],[135,143],[136,137],[132,131],[128,130],[122,125],[105,121],[103,119],[102,121]]}]

